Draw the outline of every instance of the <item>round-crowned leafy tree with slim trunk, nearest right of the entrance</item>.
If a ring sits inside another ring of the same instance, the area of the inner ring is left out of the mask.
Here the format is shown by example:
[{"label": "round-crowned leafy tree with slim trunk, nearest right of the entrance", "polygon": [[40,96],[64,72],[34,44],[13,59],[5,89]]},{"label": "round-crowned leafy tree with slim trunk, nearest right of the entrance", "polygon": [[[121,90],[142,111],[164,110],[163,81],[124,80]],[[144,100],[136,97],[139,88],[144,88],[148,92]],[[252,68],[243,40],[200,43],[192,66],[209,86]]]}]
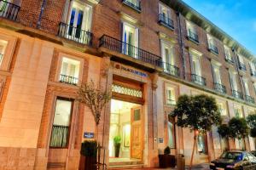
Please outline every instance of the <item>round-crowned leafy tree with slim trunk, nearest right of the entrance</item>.
[{"label": "round-crowned leafy tree with slim trunk, nearest right of the entrance", "polygon": [[206,133],[212,130],[213,125],[218,126],[221,123],[218,105],[214,98],[204,94],[182,95],[177,99],[177,105],[172,112],[172,116],[177,116],[177,126],[188,127],[194,132],[194,144],[189,166],[189,169],[191,169],[199,131]]}]

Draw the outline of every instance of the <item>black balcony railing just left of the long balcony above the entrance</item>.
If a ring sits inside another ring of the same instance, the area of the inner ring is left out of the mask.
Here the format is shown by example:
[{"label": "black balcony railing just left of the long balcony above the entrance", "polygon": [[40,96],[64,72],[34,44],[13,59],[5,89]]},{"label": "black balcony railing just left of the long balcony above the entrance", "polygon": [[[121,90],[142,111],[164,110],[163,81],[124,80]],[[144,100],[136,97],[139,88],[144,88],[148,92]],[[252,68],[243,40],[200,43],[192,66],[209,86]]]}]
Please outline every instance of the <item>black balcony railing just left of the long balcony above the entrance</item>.
[{"label": "black balcony railing just left of the long balcony above the entrance", "polygon": [[92,42],[92,33],[90,31],[84,31],[79,27],[69,26],[62,22],[59,26],[58,36],[89,46]]}]

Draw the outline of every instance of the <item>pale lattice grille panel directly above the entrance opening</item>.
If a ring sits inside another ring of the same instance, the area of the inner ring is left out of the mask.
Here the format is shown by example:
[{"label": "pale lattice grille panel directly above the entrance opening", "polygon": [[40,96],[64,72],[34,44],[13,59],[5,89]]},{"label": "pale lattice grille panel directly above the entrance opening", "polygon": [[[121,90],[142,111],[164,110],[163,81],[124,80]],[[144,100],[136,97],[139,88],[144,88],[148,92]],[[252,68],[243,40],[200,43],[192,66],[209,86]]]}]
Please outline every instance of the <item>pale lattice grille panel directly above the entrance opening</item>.
[{"label": "pale lattice grille panel directly above the entrance opening", "polygon": [[143,98],[143,91],[134,89],[134,88],[126,88],[117,84],[112,85],[112,92],[117,94],[125,94],[130,95],[137,98]]}]

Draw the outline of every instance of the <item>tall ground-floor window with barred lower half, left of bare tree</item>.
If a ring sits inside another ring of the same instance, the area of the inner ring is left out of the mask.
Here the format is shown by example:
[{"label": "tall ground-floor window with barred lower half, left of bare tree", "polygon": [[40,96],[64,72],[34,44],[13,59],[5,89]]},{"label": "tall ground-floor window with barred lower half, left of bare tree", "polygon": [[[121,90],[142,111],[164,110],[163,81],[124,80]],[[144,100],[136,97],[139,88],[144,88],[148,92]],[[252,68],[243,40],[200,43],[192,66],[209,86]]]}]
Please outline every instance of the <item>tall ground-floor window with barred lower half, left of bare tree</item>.
[{"label": "tall ground-floor window with barred lower half, left of bare tree", "polygon": [[50,147],[67,147],[72,110],[72,100],[57,98],[55,104],[54,122],[52,125],[49,143]]}]

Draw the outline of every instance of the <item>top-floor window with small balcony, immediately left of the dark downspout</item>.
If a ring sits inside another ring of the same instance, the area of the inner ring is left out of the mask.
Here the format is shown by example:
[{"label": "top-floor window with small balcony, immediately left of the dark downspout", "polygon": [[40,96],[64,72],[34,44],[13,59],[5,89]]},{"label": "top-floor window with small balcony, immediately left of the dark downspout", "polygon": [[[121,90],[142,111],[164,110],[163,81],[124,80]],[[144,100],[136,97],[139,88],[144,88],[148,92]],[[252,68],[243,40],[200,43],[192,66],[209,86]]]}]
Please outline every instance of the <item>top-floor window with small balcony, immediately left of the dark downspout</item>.
[{"label": "top-floor window with small balcony, immediately left of the dark downspout", "polygon": [[171,8],[163,3],[159,3],[159,22],[164,26],[174,29]]}]

